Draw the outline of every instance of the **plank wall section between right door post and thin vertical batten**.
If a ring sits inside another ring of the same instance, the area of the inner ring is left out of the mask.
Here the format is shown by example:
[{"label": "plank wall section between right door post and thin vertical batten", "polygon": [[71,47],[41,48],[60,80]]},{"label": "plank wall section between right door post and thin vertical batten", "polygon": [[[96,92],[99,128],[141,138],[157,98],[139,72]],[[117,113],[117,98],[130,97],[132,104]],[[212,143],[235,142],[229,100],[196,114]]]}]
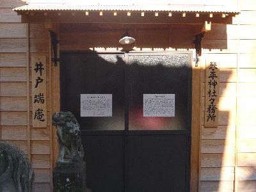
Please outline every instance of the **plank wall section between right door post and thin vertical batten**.
[{"label": "plank wall section between right door post and thin vertical batten", "polygon": [[[230,41],[237,41],[232,25],[212,26],[205,34],[202,47],[201,70],[201,155],[200,191],[233,191],[236,157],[236,81],[237,52]],[[227,32],[226,32],[227,31]],[[232,36],[231,36],[231,35]],[[221,40],[224,49],[214,44]],[[222,41],[223,40],[223,41]],[[212,47],[209,47],[212,46]],[[205,49],[208,48],[208,49]],[[211,50],[209,50],[211,49]],[[220,67],[220,106],[218,127],[204,127],[205,113],[205,63],[216,61]]]}]

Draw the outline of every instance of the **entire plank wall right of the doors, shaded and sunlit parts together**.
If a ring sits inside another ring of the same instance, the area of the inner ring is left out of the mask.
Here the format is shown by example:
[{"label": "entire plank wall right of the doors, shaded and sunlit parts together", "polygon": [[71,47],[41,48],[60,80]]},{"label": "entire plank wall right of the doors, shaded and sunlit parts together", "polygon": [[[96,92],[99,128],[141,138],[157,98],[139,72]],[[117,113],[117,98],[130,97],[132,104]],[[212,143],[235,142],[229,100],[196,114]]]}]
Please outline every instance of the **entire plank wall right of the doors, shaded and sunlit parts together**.
[{"label": "entire plank wall right of the doors, shaded and sunlit parts together", "polygon": [[[205,61],[218,62],[221,83],[218,127],[204,127],[203,119],[201,124],[200,191],[256,189],[256,3],[240,3],[241,13],[233,24],[227,29],[218,26],[217,33],[210,31],[202,42],[202,47],[211,49],[203,50],[202,55],[202,116]],[[223,40],[226,47],[216,49],[214,45]]]}]

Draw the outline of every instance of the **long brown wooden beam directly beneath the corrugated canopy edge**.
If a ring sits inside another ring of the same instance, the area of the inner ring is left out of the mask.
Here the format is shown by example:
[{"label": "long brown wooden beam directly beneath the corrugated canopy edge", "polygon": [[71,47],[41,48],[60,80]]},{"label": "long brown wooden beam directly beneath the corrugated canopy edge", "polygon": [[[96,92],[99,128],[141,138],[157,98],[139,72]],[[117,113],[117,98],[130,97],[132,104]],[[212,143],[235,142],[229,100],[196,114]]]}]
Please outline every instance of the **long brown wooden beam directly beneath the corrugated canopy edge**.
[{"label": "long brown wooden beam directly beneath the corrugated canopy edge", "polygon": [[[101,12],[101,13],[100,13]],[[196,17],[196,13],[172,13],[172,12],[28,12],[22,15],[22,22],[44,22],[46,19],[51,19],[52,23],[147,23],[147,24],[204,24],[205,20],[212,24],[231,24],[232,16],[222,13],[214,14],[214,17],[209,17],[209,14],[198,13],[200,17]],[[30,15],[34,13],[34,15]],[[144,14],[143,14],[144,13]],[[158,13],[158,14],[157,14]],[[90,15],[90,17],[88,16]],[[101,15],[101,16],[100,16]],[[144,15],[144,17],[143,17]],[[85,17],[86,16],[86,17]],[[128,17],[127,17],[128,16]],[[222,16],[222,17],[221,17]],[[145,19],[144,19],[145,18]]]}]

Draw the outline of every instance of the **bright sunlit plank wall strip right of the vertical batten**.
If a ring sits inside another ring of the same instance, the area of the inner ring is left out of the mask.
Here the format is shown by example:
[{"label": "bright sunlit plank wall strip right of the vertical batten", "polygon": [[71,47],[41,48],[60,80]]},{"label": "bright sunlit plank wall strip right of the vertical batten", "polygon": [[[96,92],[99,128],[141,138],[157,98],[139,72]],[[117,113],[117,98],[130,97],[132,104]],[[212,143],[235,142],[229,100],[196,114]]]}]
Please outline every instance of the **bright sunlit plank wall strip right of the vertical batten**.
[{"label": "bright sunlit plank wall strip right of the vertical batten", "polygon": [[[256,189],[256,2],[241,1],[237,58],[237,189]],[[243,42],[246,42],[244,44]],[[246,45],[243,47],[243,45]]]}]

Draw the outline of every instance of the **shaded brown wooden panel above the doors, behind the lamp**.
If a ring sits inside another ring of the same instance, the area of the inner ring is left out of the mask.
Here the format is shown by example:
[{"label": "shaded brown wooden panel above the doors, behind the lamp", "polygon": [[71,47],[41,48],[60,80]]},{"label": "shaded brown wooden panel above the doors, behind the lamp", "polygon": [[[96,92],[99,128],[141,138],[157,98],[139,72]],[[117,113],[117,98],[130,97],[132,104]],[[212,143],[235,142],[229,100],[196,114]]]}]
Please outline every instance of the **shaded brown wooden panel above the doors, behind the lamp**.
[{"label": "shaded brown wooden panel above the doors, behind the lamp", "polygon": [[[202,31],[203,25],[189,24],[61,24],[61,51],[84,51],[101,47],[124,47],[118,40],[127,30],[136,42],[125,45],[125,49],[166,50],[194,49],[195,35]],[[202,42],[204,49],[227,49],[227,25],[212,25]]]}]

